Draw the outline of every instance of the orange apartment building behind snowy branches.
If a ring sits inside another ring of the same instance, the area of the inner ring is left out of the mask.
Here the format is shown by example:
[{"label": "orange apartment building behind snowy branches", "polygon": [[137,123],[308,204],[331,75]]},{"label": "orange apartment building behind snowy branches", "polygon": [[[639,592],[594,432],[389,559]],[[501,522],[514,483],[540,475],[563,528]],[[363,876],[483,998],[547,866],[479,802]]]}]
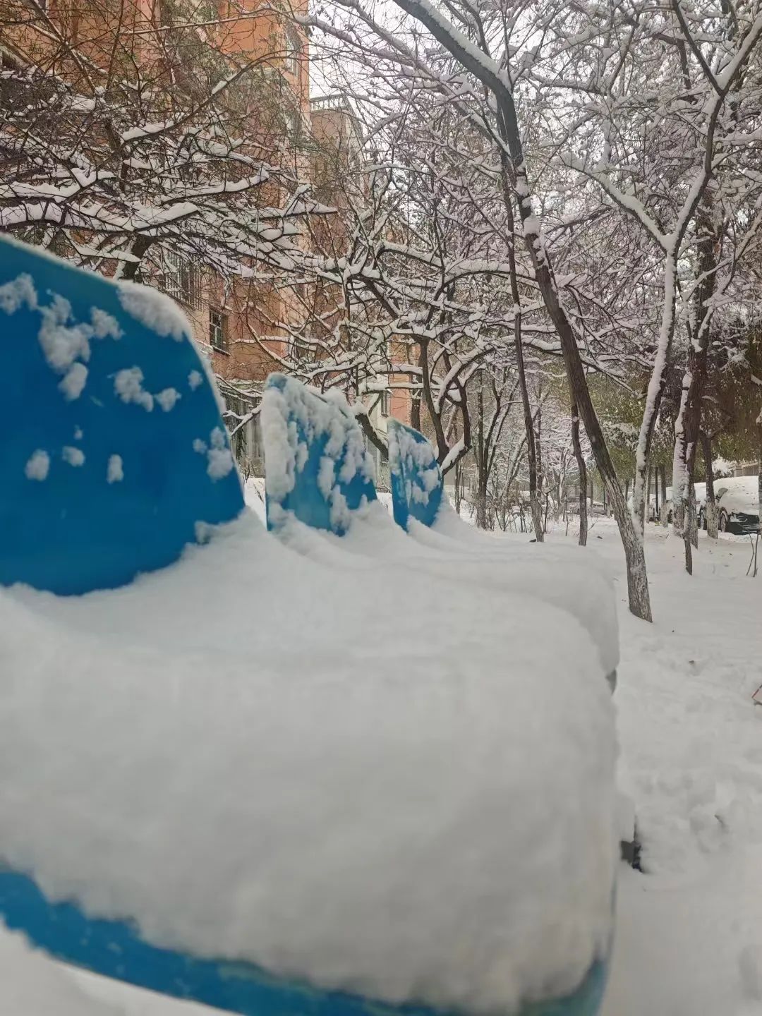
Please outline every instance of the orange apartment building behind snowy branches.
[{"label": "orange apartment building behind snowy branches", "polygon": [[[357,120],[341,97],[310,100],[309,40],[285,10],[280,14],[261,0],[0,0],[0,53],[7,66],[23,67],[23,59],[16,59],[23,54],[27,63],[52,71],[84,96],[108,87],[103,74],[93,76],[93,68],[108,67],[137,92],[161,92],[168,109],[175,88],[187,93],[199,78],[208,93],[204,41],[211,41],[207,50],[223,63],[257,67],[249,91],[242,85],[241,94],[230,99],[244,111],[246,120],[239,122],[248,124],[244,133],[252,156],[288,171],[272,174],[252,192],[252,207],[261,208],[266,218],[268,208],[282,208],[289,201],[289,185],[293,189],[295,181],[310,185],[319,201],[333,207],[362,199],[365,178],[348,172],[361,155]],[[344,240],[340,216],[330,216],[297,242],[339,253]],[[154,242],[136,277],[183,307],[220,379],[231,429],[236,430],[254,404],[251,393],[261,388],[267,374],[288,370],[302,354],[298,337],[308,332],[309,302],[313,311],[315,302],[321,304],[327,321],[335,298],[327,287],[308,292],[305,284],[280,278],[259,262],[238,274],[218,274],[182,253],[184,247],[183,242]],[[64,243],[59,252],[70,249]],[[112,273],[115,264],[106,260],[100,270]],[[374,423],[380,430],[392,412],[409,419],[404,393],[393,398],[385,393],[379,399]],[[234,445],[246,470],[261,468],[253,420],[238,430]]]}]

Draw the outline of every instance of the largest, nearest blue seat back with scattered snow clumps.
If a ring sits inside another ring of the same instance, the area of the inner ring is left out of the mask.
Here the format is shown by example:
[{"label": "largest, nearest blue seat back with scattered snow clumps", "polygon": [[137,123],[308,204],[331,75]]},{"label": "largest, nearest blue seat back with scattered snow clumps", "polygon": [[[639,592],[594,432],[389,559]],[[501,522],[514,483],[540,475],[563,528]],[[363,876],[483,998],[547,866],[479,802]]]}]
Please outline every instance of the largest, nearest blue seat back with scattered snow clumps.
[{"label": "largest, nearest blue seat back with scattered snow clumps", "polygon": [[112,588],[243,508],[176,306],[0,237],[0,583]]}]

